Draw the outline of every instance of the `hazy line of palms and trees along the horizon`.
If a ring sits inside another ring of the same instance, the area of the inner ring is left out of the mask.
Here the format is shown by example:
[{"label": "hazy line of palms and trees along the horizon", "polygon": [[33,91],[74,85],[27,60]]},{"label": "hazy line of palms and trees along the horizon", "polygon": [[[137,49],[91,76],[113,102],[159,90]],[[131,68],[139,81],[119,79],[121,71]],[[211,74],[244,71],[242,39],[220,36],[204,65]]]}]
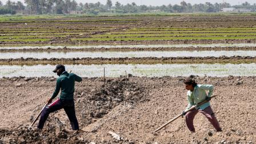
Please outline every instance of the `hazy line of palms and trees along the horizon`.
[{"label": "hazy line of palms and trees along the horizon", "polygon": [[230,3],[199,3],[191,5],[182,1],[180,5],[146,6],[135,2],[122,5],[120,2],[112,3],[107,0],[105,4],[77,3],[75,0],[25,0],[12,2],[8,0],[5,5],[0,0],[0,14],[99,14],[99,13],[218,13],[223,8],[256,10],[255,3],[251,5],[244,2],[241,5],[231,6]]}]

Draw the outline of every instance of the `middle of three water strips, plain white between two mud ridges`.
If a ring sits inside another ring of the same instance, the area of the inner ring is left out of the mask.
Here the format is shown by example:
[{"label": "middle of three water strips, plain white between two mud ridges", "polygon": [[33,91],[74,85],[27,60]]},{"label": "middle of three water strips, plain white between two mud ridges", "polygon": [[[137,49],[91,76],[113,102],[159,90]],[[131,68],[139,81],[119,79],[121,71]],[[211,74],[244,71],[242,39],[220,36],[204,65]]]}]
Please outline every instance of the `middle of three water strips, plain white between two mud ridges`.
[{"label": "middle of three water strips, plain white between two mud ridges", "polygon": [[227,57],[250,56],[255,57],[256,51],[27,51],[0,52],[1,59],[9,58],[142,58],[142,57]]}]

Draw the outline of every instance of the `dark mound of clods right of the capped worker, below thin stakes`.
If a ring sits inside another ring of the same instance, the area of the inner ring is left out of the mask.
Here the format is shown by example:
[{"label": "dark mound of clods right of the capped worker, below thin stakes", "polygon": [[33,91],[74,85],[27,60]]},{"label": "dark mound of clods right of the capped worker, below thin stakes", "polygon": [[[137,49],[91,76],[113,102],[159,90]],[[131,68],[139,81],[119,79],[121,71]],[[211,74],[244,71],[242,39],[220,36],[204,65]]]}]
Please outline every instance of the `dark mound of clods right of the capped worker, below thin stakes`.
[{"label": "dark mound of clods right of the capped worker, below thin stakes", "polygon": [[[125,80],[125,79],[123,79]],[[124,81],[111,81],[99,89],[91,89],[89,94],[78,91],[77,109],[81,122],[90,124],[93,118],[102,118],[122,102],[137,103],[146,100],[144,88]]]}]

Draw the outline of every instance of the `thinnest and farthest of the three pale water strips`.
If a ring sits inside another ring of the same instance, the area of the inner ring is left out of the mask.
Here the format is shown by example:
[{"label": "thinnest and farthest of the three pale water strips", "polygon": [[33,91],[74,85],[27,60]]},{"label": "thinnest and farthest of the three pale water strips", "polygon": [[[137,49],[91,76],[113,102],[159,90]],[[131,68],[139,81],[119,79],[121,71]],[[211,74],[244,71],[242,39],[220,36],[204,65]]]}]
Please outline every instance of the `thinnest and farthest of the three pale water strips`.
[{"label": "thinnest and farthest of the three pale water strips", "polygon": [[[66,45],[65,45],[66,46]],[[86,48],[161,48],[161,47],[255,47],[256,43],[212,43],[212,44],[180,44],[180,45],[82,45],[82,46],[66,46],[70,49],[86,49]],[[0,49],[59,49],[64,46],[1,46]]]}]

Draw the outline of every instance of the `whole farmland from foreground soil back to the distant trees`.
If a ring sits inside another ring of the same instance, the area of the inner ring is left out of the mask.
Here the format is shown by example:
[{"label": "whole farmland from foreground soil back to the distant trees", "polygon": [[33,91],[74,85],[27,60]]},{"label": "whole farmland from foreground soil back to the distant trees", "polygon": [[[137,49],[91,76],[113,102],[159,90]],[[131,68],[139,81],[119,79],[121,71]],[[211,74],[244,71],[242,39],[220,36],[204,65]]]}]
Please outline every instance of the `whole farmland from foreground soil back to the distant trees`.
[{"label": "whole farmland from foreground soil back to the distant trees", "polygon": [[[253,13],[0,17],[0,143],[255,143],[255,32]],[[50,119],[54,128],[47,125],[30,137],[23,124],[54,90],[57,64],[84,79],[75,92],[82,130],[76,136],[64,131],[69,124],[62,111],[60,119]],[[217,86],[220,96],[213,103],[223,132],[213,132],[199,117],[196,134],[181,121],[153,134],[182,111],[182,80],[189,75]],[[67,138],[49,136],[58,129]],[[113,139],[109,130],[123,139]]]}]

